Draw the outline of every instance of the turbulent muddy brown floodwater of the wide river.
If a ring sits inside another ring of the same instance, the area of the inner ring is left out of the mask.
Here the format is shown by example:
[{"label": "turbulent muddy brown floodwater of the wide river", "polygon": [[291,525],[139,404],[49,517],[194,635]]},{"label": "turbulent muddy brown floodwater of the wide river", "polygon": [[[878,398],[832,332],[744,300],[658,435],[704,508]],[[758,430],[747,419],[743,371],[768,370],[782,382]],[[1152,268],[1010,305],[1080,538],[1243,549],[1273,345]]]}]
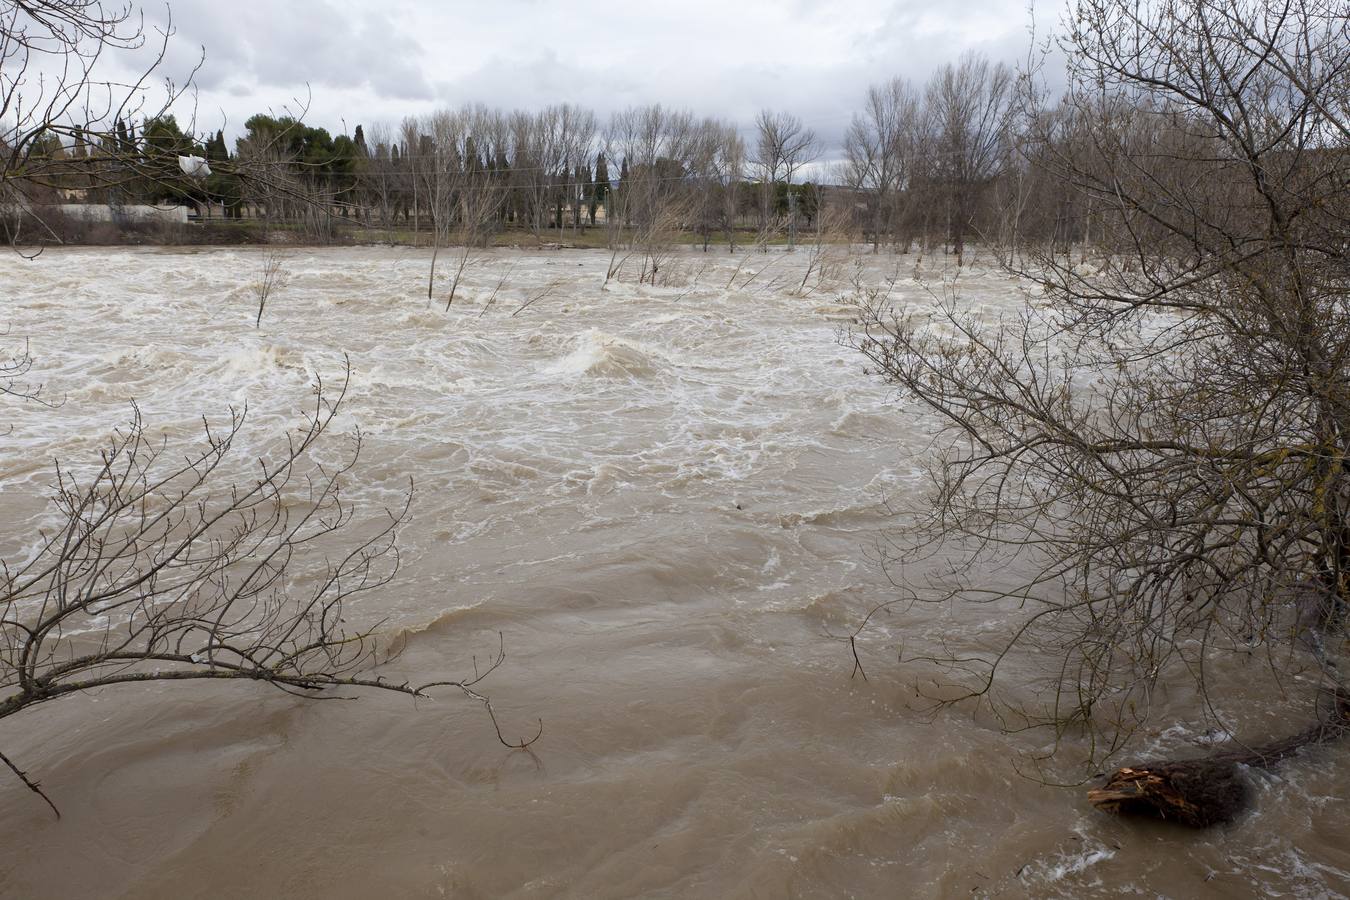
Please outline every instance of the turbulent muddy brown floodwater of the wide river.
[{"label": "turbulent muddy brown floodwater of the wide river", "polygon": [[[54,460],[97,459],[132,402],[184,451],[247,405],[236,452],[266,457],[346,355],[324,447],[363,434],[350,499],[378,513],[416,484],[402,567],[350,617],[402,636],[389,673],[414,681],[471,673],[500,634],[481,690],[508,738],[543,737],[504,748],[452,690],[158,683],[36,707],[0,749],[63,815],[0,770],[0,895],[1350,892],[1343,749],[1253,775],[1234,826],[1177,831],[1027,777],[1046,735],[930,714],[896,653],[996,637],[990,610],[896,610],[850,677],[840,638],[895,595],[876,549],[923,502],[933,422],[841,341],[842,297],[899,273],[892,300],[927,302],[911,256],[807,293],[806,252],[686,251],[667,285],[605,287],[609,254],[493,251],[446,310],[428,252],[288,250],[255,328],[265,258],[0,263],[5,345],[28,341],[57,401],[4,401],[7,561],[53,515]],[[1019,302],[992,269],[961,285],[986,316]],[[1193,750],[1189,725],[1149,739]]]}]

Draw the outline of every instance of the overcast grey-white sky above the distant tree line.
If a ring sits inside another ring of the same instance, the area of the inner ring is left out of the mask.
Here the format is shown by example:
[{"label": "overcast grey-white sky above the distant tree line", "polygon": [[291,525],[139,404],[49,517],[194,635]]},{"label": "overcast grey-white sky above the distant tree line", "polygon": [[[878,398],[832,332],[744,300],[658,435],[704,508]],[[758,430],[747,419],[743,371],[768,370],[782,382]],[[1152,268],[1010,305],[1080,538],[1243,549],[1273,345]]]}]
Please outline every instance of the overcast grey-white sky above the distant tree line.
[{"label": "overcast grey-white sky above the distant tree line", "polygon": [[[309,100],[333,132],[483,103],[662,103],[749,125],[787,109],[834,144],[868,84],[964,50],[1017,62],[1026,0],[171,0],[167,74],[197,73],[197,127]],[[147,7],[147,15],[153,11]],[[1058,7],[1042,0],[1041,30]],[[308,88],[306,88],[308,85]],[[232,140],[231,140],[232,143]]]}]

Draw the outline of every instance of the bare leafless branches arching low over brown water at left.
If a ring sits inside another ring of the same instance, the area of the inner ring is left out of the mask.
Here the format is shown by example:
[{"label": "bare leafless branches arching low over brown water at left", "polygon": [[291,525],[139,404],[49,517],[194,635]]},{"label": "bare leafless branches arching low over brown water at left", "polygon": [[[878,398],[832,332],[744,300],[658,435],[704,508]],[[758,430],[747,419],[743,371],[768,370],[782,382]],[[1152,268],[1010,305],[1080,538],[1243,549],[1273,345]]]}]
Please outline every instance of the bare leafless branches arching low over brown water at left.
[{"label": "bare leafless branches arching low over brown water at left", "polygon": [[[475,685],[505,660],[501,645],[468,677],[389,681],[371,671],[390,658],[375,626],[347,625],[350,602],[398,571],[412,483],[397,506],[363,519],[343,494],[359,433],[340,461],[316,457],[346,386],[320,385],[298,432],[243,482],[224,471],[242,412],[220,430],[204,422],[185,457],[136,412],[96,467],[58,468],[55,526],[27,559],[0,561],[0,721],[94,688],[225,679],[313,699],[450,687],[495,723]],[[47,799],[9,757],[0,762]]]}]

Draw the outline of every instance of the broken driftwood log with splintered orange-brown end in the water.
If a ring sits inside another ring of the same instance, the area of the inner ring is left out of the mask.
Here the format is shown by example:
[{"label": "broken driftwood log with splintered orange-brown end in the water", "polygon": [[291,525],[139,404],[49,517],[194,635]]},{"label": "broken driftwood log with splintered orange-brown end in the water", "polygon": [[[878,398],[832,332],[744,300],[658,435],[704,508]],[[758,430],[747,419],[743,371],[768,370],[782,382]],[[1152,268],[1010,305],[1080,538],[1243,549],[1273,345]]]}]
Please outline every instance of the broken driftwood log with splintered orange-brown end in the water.
[{"label": "broken driftwood log with splintered orange-brown end in the water", "polygon": [[1223,824],[1250,803],[1243,766],[1268,769],[1308,745],[1326,743],[1346,733],[1350,733],[1350,695],[1339,694],[1323,722],[1293,737],[1196,760],[1129,765],[1089,791],[1088,800],[1107,812],[1145,815],[1196,828]]}]

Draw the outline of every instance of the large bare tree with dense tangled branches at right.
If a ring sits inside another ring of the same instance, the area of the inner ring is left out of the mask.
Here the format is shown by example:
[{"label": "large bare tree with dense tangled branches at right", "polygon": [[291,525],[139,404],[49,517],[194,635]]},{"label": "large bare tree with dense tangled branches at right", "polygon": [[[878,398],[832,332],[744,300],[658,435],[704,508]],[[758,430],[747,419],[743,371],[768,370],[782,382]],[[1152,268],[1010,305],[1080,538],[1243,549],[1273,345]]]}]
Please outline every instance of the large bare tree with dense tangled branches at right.
[{"label": "large bare tree with dense tangled branches at right", "polygon": [[[1249,695],[1301,673],[1345,696],[1350,18],[1343,0],[1075,0],[1065,22],[1076,142],[1037,109],[1030,140],[1096,210],[1098,259],[1030,254],[1034,289],[996,322],[956,291],[934,312],[873,297],[857,344],[952,439],[903,545],[960,563],[910,599],[1015,621],[940,663],[964,696],[1081,726],[1099,760],[1161,688],[1222,718],[1219,672]],[[1025,578],[960,573],[998,563]],[[1019,658],[1048,710],[995,699]]]}]

